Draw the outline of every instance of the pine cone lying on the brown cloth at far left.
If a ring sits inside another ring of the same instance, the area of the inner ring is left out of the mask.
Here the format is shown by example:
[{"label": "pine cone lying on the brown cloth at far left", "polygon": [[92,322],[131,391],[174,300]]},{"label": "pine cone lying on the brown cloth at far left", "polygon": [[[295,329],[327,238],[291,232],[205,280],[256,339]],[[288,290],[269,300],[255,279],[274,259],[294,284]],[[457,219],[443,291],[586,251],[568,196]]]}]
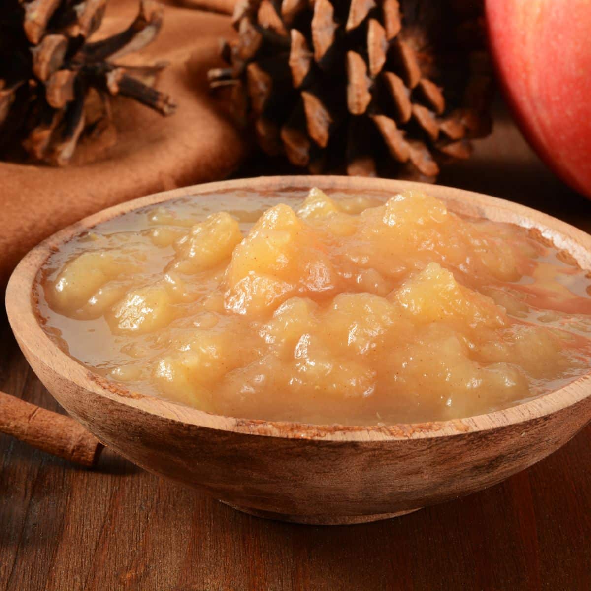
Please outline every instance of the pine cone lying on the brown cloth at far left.
[{"label": "pine cone lying on the brown cloth at far left", "polygon": [[111,60],[158,34],[163,11],[142,0],[125,30],[90,43],[108,0],[4,0],[0,7],[0,156],[63,165],[81,135],[110,123],[109,97],[128,96],[163,115],[171,99],[153,89],[166,64],[129,67]]}]

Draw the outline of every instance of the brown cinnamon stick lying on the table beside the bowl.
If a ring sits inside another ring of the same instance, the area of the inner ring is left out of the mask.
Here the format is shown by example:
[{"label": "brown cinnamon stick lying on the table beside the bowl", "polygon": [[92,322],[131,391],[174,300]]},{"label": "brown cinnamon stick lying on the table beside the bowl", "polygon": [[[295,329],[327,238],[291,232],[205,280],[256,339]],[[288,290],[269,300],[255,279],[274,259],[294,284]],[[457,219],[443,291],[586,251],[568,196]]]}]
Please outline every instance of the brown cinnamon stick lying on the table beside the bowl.
[{"label": "brown cinnamon stick lying on the table beside the bowl", "polygon": [[0,391],[0,432],[82,466],[94,466],[103,444],[73,418]]}]

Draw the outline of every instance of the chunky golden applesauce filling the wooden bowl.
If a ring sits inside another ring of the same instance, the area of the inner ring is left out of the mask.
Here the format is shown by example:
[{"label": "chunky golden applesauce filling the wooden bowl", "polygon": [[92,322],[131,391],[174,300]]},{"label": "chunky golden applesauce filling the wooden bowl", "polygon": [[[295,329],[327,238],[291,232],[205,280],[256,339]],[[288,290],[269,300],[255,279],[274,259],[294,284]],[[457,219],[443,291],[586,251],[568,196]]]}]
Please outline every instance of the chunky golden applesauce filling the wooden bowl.
[{"label": "chunky golden applesauce filling the wooden bowl", "polygon": [[243,418],[488,413],[589,368],[591,281],[527,230],[428,194],[216,194],[67,243],[41,314],[132,391]]}]

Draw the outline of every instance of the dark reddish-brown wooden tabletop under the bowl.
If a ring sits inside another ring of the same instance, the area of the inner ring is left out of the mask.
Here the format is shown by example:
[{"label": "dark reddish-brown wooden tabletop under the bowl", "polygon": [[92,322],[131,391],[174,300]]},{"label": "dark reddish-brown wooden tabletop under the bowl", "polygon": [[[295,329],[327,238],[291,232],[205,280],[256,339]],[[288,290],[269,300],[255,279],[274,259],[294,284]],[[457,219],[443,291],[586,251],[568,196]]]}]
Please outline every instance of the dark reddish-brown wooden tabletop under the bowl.
[{"label": "dark reddish-brown wooden tabletop under the bowl", "polygon": [[[591,204],[506,118],[441,183],[591,230]],[[0,388],[57,403],[1,324]],[[591,590],[591,426],[506,482],[414,514],[312,527],[243,515],[106,451],[89,471],[0,436],[0,591]]]}]

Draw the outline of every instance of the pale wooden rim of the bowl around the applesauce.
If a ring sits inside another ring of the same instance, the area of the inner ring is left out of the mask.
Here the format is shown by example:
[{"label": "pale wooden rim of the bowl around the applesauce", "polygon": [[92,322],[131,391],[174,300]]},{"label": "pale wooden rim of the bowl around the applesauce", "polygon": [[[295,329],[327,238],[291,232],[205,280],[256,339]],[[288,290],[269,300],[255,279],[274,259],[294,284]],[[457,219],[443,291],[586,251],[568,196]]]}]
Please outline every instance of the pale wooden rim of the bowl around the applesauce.
[{"label": "pale wooden rim of the bowl around the applesauce", "polygon": [[[160,193],[139,197],[138,199],[108,207],[59,230],[59,232],[54,233],[35,246],[24,256],[12,272],[6,291],[8,319],[19,345],[61,377],[76,384],[77,387],[92,391],[99,397],[108,398],[118,404],[134,407],[156,417],[199,428],[232,431],[249,435],[287,437],[290,439],[325,441],[408,440],[476,433],[535,420],[556,413],[591,396],[591,369],[589,369],[587,374],[580,376],[566,386],[533,400],[488,414],[447,421],[345,426],[340,424],[316,425],[229,417],[207,413],[197,408],[186,407],[178,402],[130,391],[124,384],[108,381],[63,352],[41,327],[33,290],[39,269],[46,262],[48,256],[56,252],[63,243],[92,228],[92,226],[141,207],[181,197],[204,196],[235,190],[305,191],[313,186],[318,186],[327,191],[355,190],[397,193],[408,189],[423,190],[433,194],[438,199],[452,203],[454,211],[460,211],[467,215],[487,217],[499,222],[516,223],[528,229],[537,229],[544,239],[550,240],[556,248],[567,251],[573,256],[580,267],[591,270],[590,235],[566,222],[530,207],[508,202],[498,197],[454,187],[384,178],[277,176],[215,181],[213,183],[161,191]],[[23,302],[28,303],[28,305],[23,306]]]}]

